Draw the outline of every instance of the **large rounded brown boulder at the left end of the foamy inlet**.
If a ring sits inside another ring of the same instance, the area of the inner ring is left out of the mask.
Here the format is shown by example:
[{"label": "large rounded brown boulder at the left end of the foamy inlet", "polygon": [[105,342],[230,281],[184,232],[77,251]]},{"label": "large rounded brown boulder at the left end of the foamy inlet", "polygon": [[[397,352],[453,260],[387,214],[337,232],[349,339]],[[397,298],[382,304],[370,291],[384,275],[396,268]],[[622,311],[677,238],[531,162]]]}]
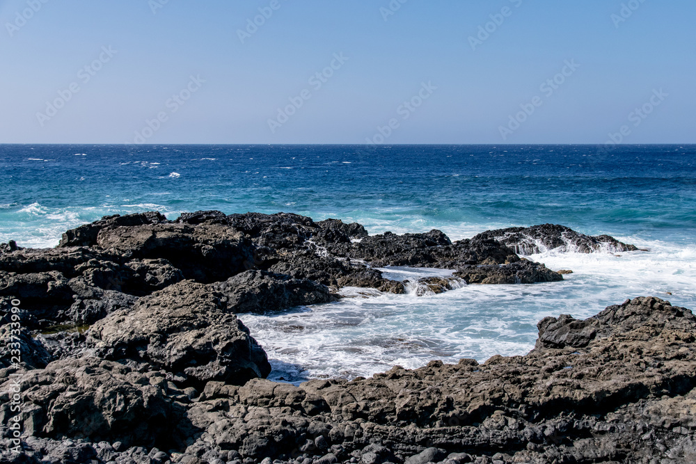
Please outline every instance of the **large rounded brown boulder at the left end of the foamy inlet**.
[{"label": "large rounded brown boulder at the left end of the foamy inlet", "polygon": [[266,353],[222,296],[188,280],[113,312],[90,328],[87,341],[103,358],[149,362],[187,386],[243,384],[271,371]]}]

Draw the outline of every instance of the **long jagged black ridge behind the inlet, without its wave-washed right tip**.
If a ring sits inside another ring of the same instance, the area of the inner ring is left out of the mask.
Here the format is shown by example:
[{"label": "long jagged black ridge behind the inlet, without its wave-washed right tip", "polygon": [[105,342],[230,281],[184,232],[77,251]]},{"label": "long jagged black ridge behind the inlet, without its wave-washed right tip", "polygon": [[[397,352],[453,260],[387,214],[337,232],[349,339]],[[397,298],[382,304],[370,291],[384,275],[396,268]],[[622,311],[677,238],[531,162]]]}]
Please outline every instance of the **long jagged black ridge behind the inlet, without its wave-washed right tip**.
[{"label": "long jagged black ridge behind the inlet, without its wave-washed right tip", "polygon": [[[553,240],[556,230],[550,233]],[[68,230],[57,248],[1,247],[0,310],[20,298],[26,328],[91,324],[184,279],[221,285],[244,279],[244,271],[265,274],[244,284],[250,287],[244,298],[255,295],[258,304],[240,303],[237,312],[329,302],[341,287],[404,293],[404,283],[383,278],[380,266],[452,269],[468,283],[562,280],[491,237],[452,243],[438,230],[368,236],[356,223],[283,213],[198,211],[175,221],[157,212],[105,216]]]}]

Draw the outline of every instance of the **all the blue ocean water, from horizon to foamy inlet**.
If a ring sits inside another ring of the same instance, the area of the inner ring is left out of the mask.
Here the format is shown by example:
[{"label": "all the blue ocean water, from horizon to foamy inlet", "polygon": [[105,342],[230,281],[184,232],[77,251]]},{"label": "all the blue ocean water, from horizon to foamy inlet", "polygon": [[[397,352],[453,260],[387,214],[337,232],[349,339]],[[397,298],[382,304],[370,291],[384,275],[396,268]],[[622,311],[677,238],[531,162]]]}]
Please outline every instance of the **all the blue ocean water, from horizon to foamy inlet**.
[{"label": "all the blue ocean water, from horizon to foamy inlet", "polygon": [[[545,252],[564,282],[377,295],[243,315],[274,378],[368,375],[523,354],[546,315],[588,317],[653,294],[696,308],[696,145],[0,145],[0,241],[55,246],[106,214],[295,212],[370,233],[452,239],[559,223],[649,248]],[[288,336],[290,334],[290,336]]]}]

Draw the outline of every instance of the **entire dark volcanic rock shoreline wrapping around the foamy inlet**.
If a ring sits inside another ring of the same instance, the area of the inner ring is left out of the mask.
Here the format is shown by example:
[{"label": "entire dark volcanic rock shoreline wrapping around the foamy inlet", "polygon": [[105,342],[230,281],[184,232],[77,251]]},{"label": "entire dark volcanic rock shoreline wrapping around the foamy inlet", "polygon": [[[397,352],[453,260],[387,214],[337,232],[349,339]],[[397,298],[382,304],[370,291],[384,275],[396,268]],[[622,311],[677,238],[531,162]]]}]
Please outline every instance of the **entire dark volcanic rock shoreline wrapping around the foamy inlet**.
[{"label": "entire dark volcanic rock shoreline wrapping around the foamy inlet", "polygon": [[658,298],[546,318],[524,356],[299,386],[264,379],[267,355],[235,315],[331,303],[342,287],[404,293],[386,266],[452,270],[418,282],[432,293],[562,280],[518,254],[539,247],[637,250],[558,225],[452,242],[219,211],[2,244],[0,463],[696,460],[696,318]]}]

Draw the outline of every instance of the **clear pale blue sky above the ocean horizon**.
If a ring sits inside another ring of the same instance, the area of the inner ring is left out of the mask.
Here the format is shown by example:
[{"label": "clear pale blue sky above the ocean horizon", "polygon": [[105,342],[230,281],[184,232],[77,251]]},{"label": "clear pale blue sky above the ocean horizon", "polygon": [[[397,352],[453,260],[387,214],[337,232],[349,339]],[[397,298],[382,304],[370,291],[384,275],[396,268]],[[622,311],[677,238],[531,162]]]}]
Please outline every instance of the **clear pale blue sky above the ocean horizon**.
[{"label": "clear pale blue sky above the ocean horizon", "polygon": [[0,143],[696,143],[693,0],[0,0]]}]

